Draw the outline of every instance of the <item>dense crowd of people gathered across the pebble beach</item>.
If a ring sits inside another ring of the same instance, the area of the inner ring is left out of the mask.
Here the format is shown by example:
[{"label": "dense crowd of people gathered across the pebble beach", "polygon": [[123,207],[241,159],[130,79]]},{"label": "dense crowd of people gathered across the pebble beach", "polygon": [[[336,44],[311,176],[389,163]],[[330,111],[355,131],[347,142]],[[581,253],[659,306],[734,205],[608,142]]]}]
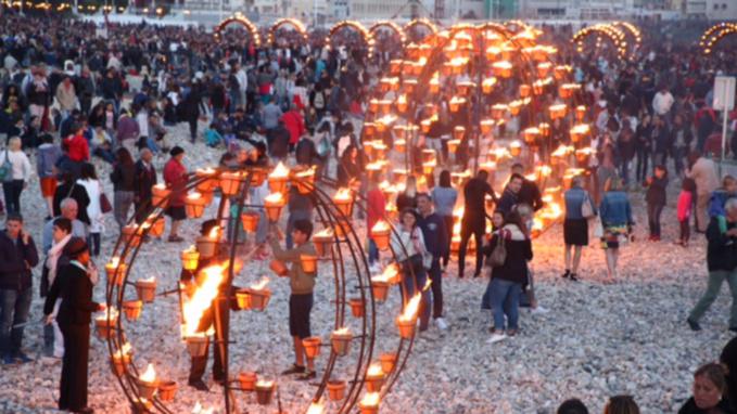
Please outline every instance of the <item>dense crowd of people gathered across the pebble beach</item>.
[{"label": "dense crowd of people gathered across the pebble beach", "polygon": [[[185,240],[180,229],[187,219],[187,174],[195,166],[187,167],[183,141],[218,148],[214,151],[224,153],[224,167],[280,161],[317,166],[318,180],[361,193],[366,209],[359,220],[366,220],[367,230],[386,219],[392,200],[380,186],[386,177],[366,172],[360,120],[372,88],[401,51],[391,36],[377,42],[378,52],[369,55],[352,33],[342,34],[333,48],[321,43],[323,37],[303,38],[291,31],[282,33],[275,44],[259,47],[238,31],[226,31],[216,41],[201,28],[109,25],[100,34],[99,27],[80,21],[13,13],[3,18],[0,134],[8,139],[0,153],[4,202],[0,211],[7,216],[7,229],[0,233],[0,353],[9,365],[33,361],[22,339],[29,320],[33,271],[40,268],[48,323],[43,354],[63,359],[60,409],[91,412],[86,374],[90,314],[105,309],[92,301],[99,279],[93,258],[104,255],[101,242],[117,237],[130,220],[145,219],[151,187],[158,182],[173,191],[166,209],[171,221],[167,241]],[[567,39],[570,27],[551,33],[554,39]],[[590,146],[597,153],[564,193],[562,277],[576,282],[590,276],[582,269],[581,257],[593,231],[605,251],[606,280],[617,281],[619,250],[634,240],[631,194],[645,192],[649,241],[658,243],[668,227],[661,224],[661,216],[669,182],[679,181],[674,220],[679,236],[673,242],[688,247],[691,221],[708,240],[708,288],[687,323],[701,328],[699,320],[726,280],[734,298],[729,329],[737,332],[737,180],[720,178],[709,156],[721,151],[721,141],[719,151],[714,144],[720,119],[711,108],[713,77],[734,67],[737,54],[725,50],[707,59],[694,48],[665,42],[645,44],[634,61],[618,61],[607,53],[581,56],[567,43],[559,46],[562,59],[574,67],[575,80],[584,86],[593,120]],[[139,79],[140,85],[132,85]],[[729,120],[732,133],[737,133],[735,117],[729,115]],[[437,329],[447,329],[442,286],[454,262],[454,211],[462,205],[457,275],[466,276],[473,238],[473,277],[490,275],[481,308],[491,311],[488,344],[496,344],[519,333],[521,306],[548,311],[535,296],[531,267],[532,223],[544,202],[542,190],[524,176],[534,165],[521,159],[511,164],[501,189],[483,169],[456,187],[452,171],[465,169],[468,160],[449,156],[447,141],[461,122],[441,116],[428,133],[428,142],[437,140],[433,145],[442,150],[442,168],[427,187],[420,189],[412,174],[407,177],[394,200],[398,215],[392,250],[403,273],[403,293],[422,295],[420,336],[427,335],[431,320]],[[554,141],[570,142],[566,122],[552,126]],[[178,124],[187,124],[188,137],[171,134]],[[736,145],[733,137],[732,156],[737,156]],[[166,154],[169,158],[157,171],[156,157]],[[98,171],[110,172],[112,202],[103,190],[107,178]],[[28,189],[34,174],[39,190]],[[26,190],[40,191],[45,222],[24,220],[29,207],[22,206],[21,196]],[[255,187],[249,196],[258,204],[266,194],[266,187]],[[487,198],[493,209],[487,210]],[[264,259],[270,251],[277,260],[292,263],[290,334],[295,363],[284,374],[301,374],[303,379],[316,375],[310,360],[305,365],[302,345],[310,336],[315,280],[295,255],[314,249],[312,203],[293,191],[287,248],[277,234],[259,225],[261,248],[254,256]],[[106,215],[112,215],[117,231],[105,230]],[[40,251],[28,227],[42,229]],[[203,225],[203,234],[208,230]],[[385,254],[372,240],[367,250],[371,270],[380,271]],[[191,276],[182,273],[182,282],[194,283]],[[217,365],[218,352],[214,354]],[[722,362],[734,363],[729,358],[723,354]],[[196,389],[207,388],[202,380],[205,364],[206,357],[192,360],[190,385]],[[221,381],[218,374],[215,379]],[[734,412],[737,398],[732,393],[737,388],[732,379],[721,365],[699,368],[694,398],[681,412]],[[580,401],[567,401],[559,409],[586,412]],[[619,396],[605,412],[639,411],[631,397]]]}]

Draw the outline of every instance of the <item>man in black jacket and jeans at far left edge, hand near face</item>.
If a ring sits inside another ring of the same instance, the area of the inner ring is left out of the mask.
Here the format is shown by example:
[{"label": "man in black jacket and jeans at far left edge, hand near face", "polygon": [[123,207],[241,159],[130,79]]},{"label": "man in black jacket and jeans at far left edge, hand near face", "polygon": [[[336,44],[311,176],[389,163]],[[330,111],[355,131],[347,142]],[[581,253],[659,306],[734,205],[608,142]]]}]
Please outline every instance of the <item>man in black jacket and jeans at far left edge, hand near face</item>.
[{"label": "man in black jacket and jeans at far left edge, hand near face", "polygon": [[23,229],[23,217],[8,215],[0,233],[0,353],[4,364],[33,361],[22,345],[33,297],[30,269],[36,264],[36,244]]}]

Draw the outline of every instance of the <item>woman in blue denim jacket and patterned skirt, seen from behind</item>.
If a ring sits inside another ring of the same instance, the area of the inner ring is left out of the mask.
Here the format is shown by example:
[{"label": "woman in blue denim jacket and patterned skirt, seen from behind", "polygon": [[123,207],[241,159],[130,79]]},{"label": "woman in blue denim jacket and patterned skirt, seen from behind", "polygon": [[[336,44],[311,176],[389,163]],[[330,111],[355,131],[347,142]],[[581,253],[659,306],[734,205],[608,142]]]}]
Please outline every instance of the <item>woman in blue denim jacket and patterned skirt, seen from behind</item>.
[{"label": "woman in blue denim jacket and patterned skirt, seen from behind", "polygon": [[610,178],[603,185],[603,197],[599,205],[599,217],[603,228],[601,247],[607,256],[607,275],[617,279],[617,261],[622,243],[626,243],[634,221],[627,194],[622,190],[622,180]]}]

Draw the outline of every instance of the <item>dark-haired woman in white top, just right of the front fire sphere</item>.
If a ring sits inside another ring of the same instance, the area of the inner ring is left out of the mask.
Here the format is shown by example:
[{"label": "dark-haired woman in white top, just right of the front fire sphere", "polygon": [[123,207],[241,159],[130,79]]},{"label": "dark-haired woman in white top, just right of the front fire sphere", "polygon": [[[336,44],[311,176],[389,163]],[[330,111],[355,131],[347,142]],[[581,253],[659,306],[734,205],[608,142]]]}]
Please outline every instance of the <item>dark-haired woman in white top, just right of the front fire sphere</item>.
[{"label": "dark-haired woman in white top, just right of the front fire sphere", "polygon": [[417,225],[417,212],[406,208],[399,214],[399,225],[392,233],[392,251],[402,272],[402,296],[404,302],[409,301],[418,293],[420,301],[420,332],[427,331],[430,323],[430,289],[424,285],[428,279],[427,269],[432,266],[432,255],[424,247],[422,231]]}]

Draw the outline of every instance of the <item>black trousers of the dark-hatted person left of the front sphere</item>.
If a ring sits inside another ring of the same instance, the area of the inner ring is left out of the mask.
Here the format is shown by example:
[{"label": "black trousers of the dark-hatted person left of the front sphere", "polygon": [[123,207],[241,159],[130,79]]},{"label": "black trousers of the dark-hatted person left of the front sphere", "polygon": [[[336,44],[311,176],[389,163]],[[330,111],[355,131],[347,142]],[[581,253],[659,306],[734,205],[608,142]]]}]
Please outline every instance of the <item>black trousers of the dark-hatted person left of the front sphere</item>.
[{"label": "black trousers of the dark-hatted person left of the front sphere", "polygon": [[60,324],[64,335],[62,380],[59,384],[59,409],[81,410],[87,406],[87,363],[90,326]]}]

